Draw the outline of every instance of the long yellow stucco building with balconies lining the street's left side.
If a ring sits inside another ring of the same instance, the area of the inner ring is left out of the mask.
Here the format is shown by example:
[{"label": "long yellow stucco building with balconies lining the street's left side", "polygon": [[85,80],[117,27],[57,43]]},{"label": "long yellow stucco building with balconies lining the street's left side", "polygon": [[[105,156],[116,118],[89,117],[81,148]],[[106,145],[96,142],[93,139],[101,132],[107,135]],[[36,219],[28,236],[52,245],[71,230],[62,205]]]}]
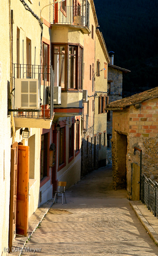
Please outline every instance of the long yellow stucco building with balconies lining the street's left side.
[{"label": "long yellow stucco building with balconies lining the street's left side", "polygon": [[58,181],[68,188],[88,170],[87,158],[91,169],[106,158],[107,69],[99,71],[109,56],[97,26],[93,0],[2,3],[2,255],[16,234],[27,236],[28,218],[52,199]]}]

